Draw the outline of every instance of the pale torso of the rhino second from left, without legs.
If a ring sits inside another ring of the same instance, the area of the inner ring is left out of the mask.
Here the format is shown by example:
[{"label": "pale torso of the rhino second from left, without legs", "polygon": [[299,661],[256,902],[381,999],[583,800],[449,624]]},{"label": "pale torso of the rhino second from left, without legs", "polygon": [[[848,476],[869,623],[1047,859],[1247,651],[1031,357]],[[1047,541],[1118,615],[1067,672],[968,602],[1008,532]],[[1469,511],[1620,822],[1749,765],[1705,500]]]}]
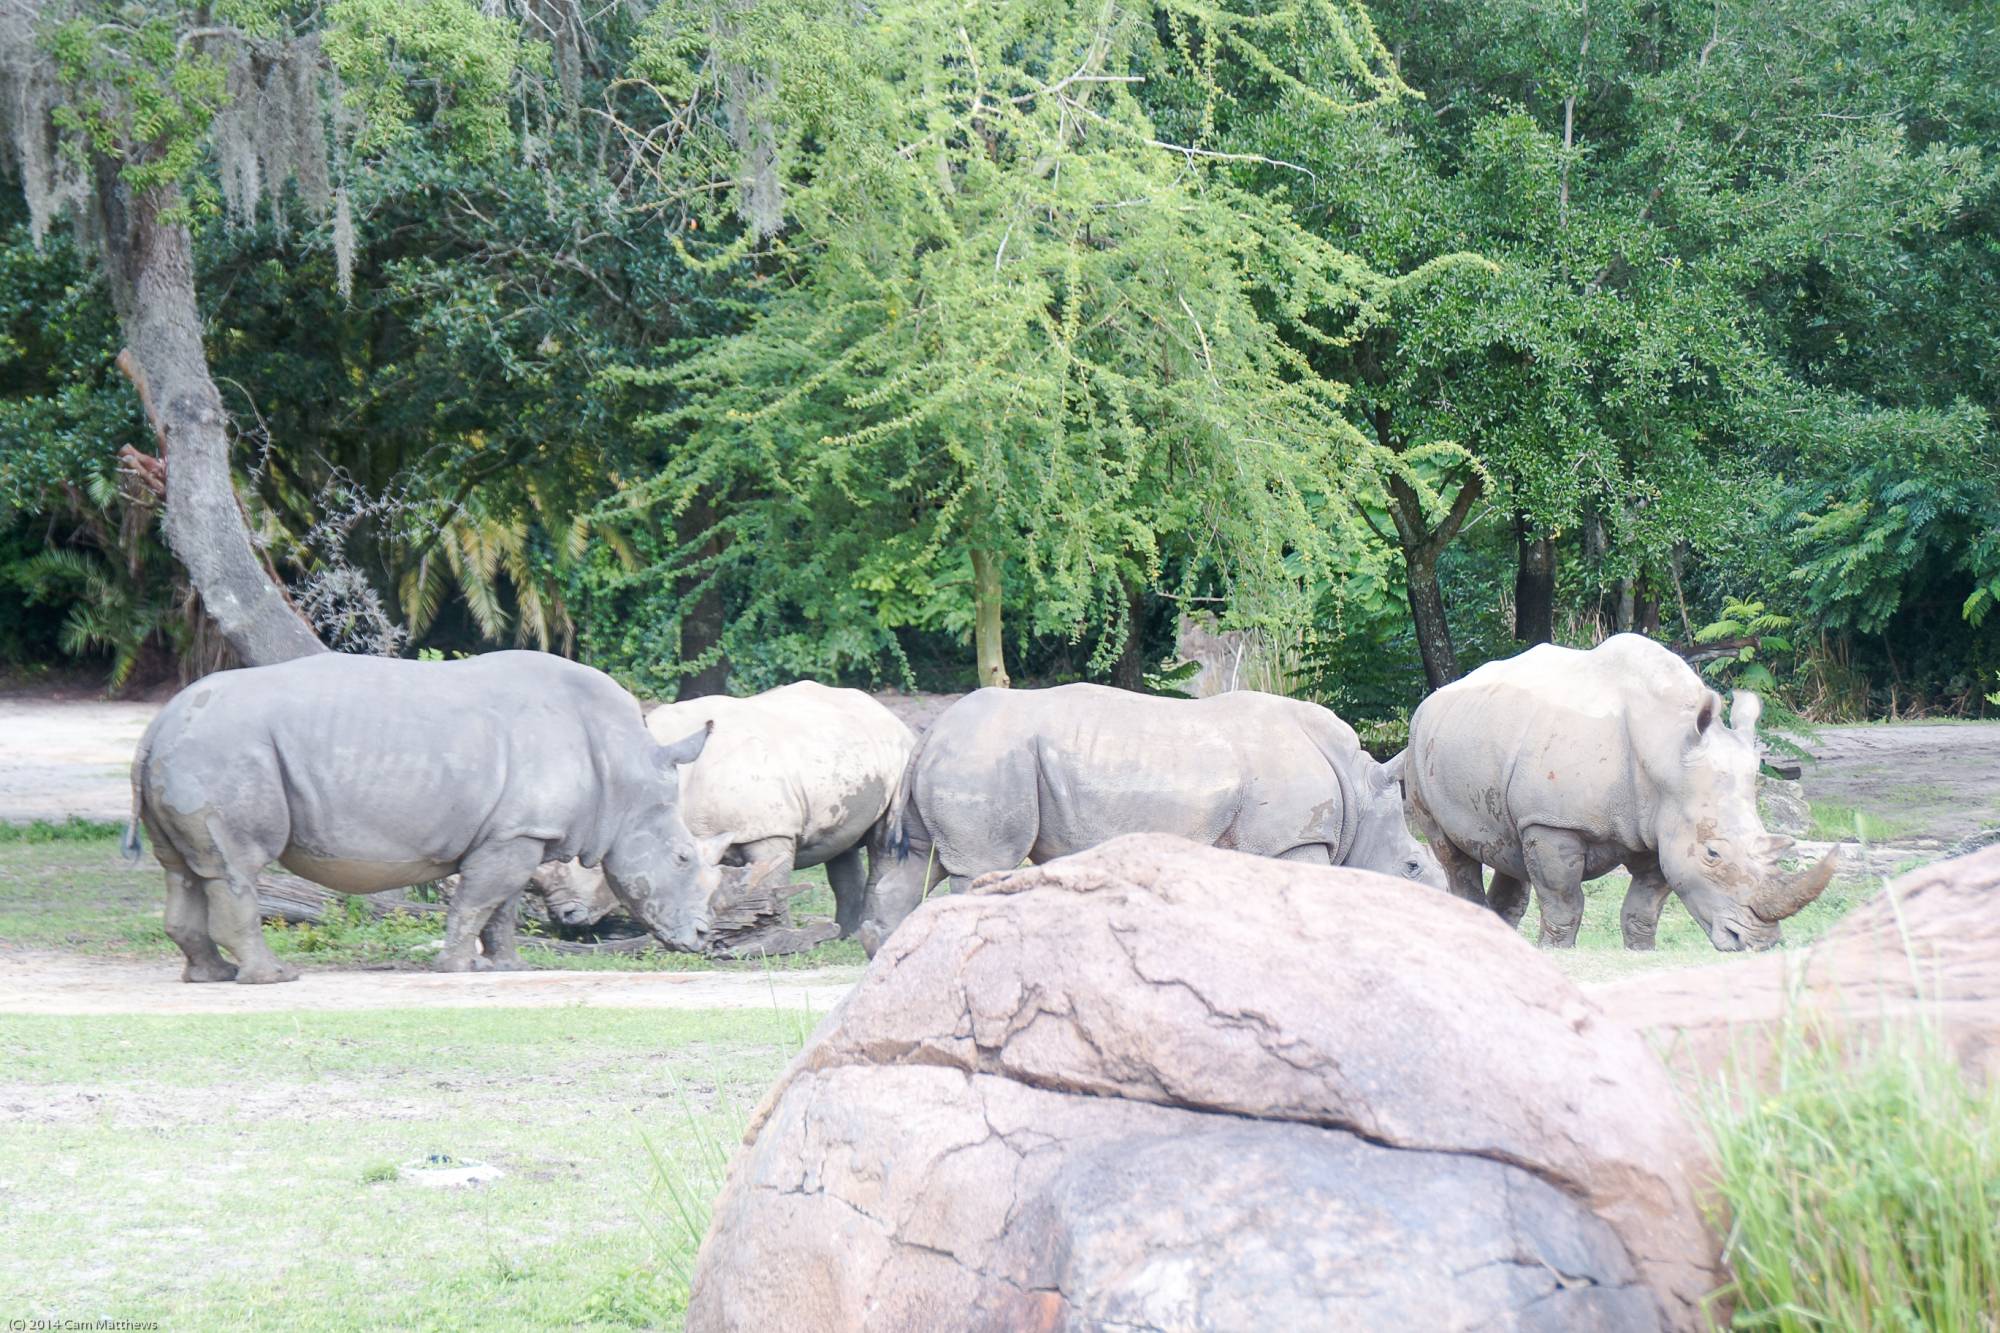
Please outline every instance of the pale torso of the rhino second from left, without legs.
[{"label": "pale torso of the rhino second from left, without legs", "polygon": [[696,837],[796,839],[798,865],[856,843],[888,811],[916,737],[862,691],[798,681],[762,695],[712,695],[646,717],[660,743],[714,723],[682,769],[682,817]]}]

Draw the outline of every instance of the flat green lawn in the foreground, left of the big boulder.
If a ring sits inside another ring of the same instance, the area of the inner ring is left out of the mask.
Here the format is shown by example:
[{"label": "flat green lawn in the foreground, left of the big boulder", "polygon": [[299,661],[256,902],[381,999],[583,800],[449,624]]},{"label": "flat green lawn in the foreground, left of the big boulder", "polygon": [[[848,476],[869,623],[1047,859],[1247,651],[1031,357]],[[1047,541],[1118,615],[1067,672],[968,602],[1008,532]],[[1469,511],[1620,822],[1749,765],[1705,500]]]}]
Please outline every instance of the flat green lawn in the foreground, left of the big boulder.
[{"label": "flat green lawn in the foreground, left of the big boulder", "polygon": [[[782,1011],[0,1019],[8,1315],[678,1327],[692,1243],[664,1191],[708,1189],[808,1031]],[[398,1177],[430,1153],[506,1175]]]}]

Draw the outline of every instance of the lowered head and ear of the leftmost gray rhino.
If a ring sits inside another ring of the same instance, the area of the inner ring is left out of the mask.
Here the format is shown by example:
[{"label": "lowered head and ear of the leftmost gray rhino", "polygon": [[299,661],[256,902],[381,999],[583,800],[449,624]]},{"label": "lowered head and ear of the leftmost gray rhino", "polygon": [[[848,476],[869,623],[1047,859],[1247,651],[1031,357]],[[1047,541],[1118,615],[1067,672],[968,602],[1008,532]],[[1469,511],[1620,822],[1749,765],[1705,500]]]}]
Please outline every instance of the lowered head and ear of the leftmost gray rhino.
[{"label": "lowered head and ear of the leftmost gray rhino", "polygon": [[604,879],[632,917],[668,949],[696,953],[708,935],[710,901],[722,887],[730,835],[698,839],[680,817],[680,769],[708,745],[714,723],[672,745],[652,747],[654,779],[642,783],[604,853]]}]

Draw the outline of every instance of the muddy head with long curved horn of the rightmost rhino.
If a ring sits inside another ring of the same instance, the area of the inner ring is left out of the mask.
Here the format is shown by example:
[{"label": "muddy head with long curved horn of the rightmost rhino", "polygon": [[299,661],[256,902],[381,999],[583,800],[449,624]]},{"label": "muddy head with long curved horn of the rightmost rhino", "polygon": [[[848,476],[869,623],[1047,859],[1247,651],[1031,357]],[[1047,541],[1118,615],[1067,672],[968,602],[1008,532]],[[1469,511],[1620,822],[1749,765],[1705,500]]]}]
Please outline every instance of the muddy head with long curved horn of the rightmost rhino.
[{"label": "muddy head with long curved horn of the rightmost rhino", "polygon": [[1792,839],[1766,833],[1756,813],[1764,703],[1736,691],[1728,727],[1720,713],[1722,699],[1710,691],[1686,739],[1678,785],[1662,793],[1660,871],[1716,949],[1768,949],[1780,939],[1778,923],[1820,897],[1838,859],[1828,853],[1790,873],[1778,867]]}]

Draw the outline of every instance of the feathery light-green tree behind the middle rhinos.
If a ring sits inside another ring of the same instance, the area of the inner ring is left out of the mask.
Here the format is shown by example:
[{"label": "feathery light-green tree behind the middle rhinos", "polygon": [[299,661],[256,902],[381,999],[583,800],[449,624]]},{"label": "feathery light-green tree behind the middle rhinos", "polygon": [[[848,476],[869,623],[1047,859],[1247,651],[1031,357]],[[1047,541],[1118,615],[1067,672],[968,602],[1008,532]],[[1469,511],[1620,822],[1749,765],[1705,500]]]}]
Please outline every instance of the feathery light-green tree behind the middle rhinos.
[{"label": "feathery light-green tree behind the middle rhinos", "polygon": [[[1278,28],[1338,54],[1280,68]],[[1330,112],[1402,96],[1358,6],[688,4],[656,34],[648,74],[686,108],[666,186],[716,200],[688,234],[734,228],[712,262],[758,264],[760,304],[630,376],[686,434],[640,500],[732,496],[740,626],[804,612],[882,646],[944,602],[1006,685],[1006,604],[1124,630],[1168,552],[1238,608],[1296,610],[1370,444],[1278,330],[1392,282],[1238,188],[1222,168],[1254,148],[1162,136],[1140,90],[1180,70],[1214,100],[1216,68],[1262,62]]]}]

